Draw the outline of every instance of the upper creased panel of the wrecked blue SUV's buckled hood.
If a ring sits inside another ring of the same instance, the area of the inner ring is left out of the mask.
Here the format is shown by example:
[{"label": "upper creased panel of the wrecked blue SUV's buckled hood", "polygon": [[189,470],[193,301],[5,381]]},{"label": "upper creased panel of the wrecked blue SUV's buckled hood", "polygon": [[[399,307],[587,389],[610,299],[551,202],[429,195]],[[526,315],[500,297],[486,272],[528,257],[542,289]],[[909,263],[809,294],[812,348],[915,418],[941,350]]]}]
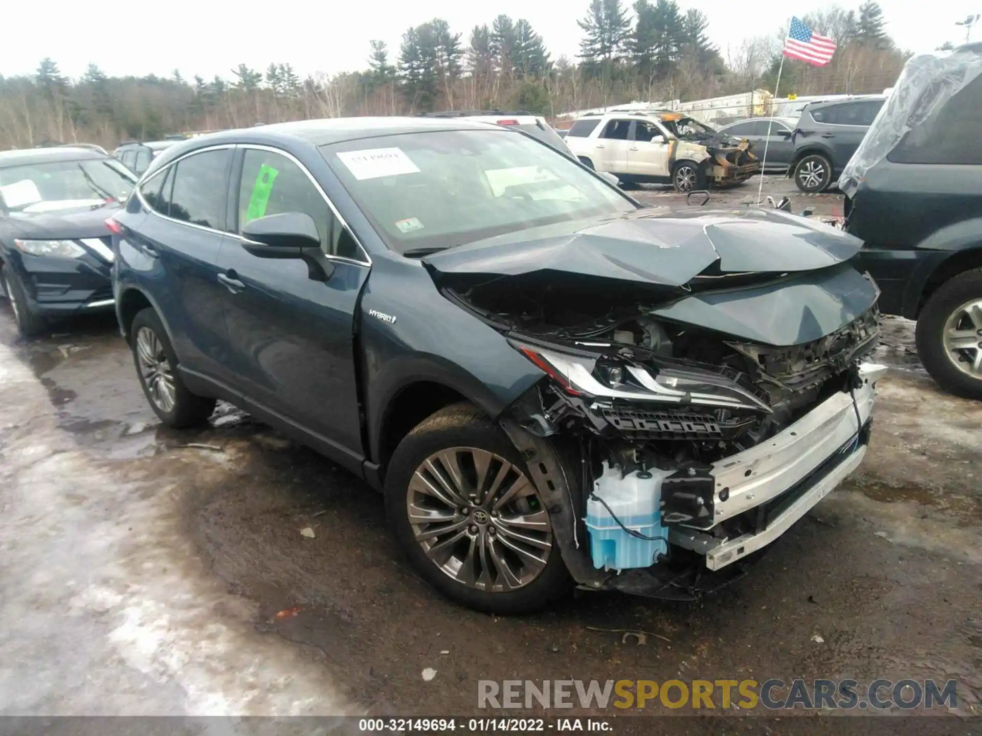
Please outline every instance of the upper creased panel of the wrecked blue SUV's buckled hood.
[{"label": "upper creased panel of the wrecked blue SUV's buckled hood", "polygon": [[[683,288],[704,271],[813,271],[854,256],[862,240],[776,210],[651,212],[562,223],[461,245],[423,259],[450,276],[534,273]],[[687,289],[683,289],[687,290]]]}]

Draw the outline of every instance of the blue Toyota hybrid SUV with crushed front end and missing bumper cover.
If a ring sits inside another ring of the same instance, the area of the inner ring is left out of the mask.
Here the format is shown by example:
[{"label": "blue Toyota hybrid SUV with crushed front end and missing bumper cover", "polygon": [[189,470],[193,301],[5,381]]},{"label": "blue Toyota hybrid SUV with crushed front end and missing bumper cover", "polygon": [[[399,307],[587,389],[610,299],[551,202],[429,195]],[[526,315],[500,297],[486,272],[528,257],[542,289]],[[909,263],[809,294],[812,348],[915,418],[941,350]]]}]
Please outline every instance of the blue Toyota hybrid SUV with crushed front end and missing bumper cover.
[{"label": "blue Toyota hybrid SUV with crushed front end and missing bumper cover", "polygon": [[435,588],[693,598],[862,460],[860,241],[645,209],[520,131],[356,118],[180,143],[113,218],[136,375],[231,401],[384,493]]}]

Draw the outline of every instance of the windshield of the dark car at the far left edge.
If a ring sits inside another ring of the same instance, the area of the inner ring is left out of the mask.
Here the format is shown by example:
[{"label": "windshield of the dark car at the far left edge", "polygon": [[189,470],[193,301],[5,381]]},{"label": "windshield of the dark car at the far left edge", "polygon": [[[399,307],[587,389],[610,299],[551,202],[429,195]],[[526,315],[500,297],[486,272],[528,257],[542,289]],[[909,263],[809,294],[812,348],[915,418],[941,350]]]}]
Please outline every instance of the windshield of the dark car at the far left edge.
[{"label": "windshield of the dark car at the far left edge", "polygon": [[136,179],[115,159],[50,161],[0,169],[0,200],[11,212],[49,212],[123,201]]}]

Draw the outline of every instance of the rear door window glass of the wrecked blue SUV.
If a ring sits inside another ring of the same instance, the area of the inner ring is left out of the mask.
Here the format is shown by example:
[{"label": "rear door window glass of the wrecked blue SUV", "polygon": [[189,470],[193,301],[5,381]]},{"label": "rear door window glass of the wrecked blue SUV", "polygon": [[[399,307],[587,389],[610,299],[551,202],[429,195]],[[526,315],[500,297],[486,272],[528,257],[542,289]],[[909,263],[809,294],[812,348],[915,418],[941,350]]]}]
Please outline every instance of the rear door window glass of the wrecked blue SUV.
[{"label": "rear door window glass of the wrecked blue SUV", "polygon": [[230,149],[195,153],[181,159],[172,175],[169,215],[213,230],[225,228],[225,192]]}]

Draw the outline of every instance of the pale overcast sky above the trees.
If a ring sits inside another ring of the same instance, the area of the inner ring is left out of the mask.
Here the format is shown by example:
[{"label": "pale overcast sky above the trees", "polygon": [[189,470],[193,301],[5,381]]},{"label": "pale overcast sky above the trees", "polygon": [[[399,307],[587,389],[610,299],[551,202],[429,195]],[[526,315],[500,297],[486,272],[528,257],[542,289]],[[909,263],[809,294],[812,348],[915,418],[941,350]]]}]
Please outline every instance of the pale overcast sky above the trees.
[{"label": "pale overcast sky above the trees", "polygon": [[[499,13],[527,19],[545,39],[553,59],[561,54],[573,57],[581,36],[576,20],[585,15],[588,4],[588,0],[197,0],[173,5],[85,5],[10,0],[0,13],[4,27],[0,75],[32,74],[45,56],[70,77],[81,76],[89,62],[109,75],[170,76],[178,69],[186,79],[195,74],[205,79],[216,74],[231,78],[231,69],[240,63],[265,70],[270,62],[289,62],[300,76],[333,74],[365,68],[372,38],[389,44],[390,61],[394,61],[400,37],[409,26],[443,18],[466,43],[471,27],[490,24]],[[630,3],[626,0],[626,4]],[[803,16],[830,6],[819,0],[679,0],[679,4],[683,9],[699,8],[709,17],[710,38],[724,57],[727,47],[736,49],[744,36],[787,25],[785,13]],[[840,4],[858,7],[858,1],[855,6]],[[982,13],[982,0],[933,4],[880,0],[880,5],[894,40],[914,52],[931,51],[945,41],[963,41],[964,30],[955,21]],[[982,40],[982,24],[974,29],[972,39]]]}]

